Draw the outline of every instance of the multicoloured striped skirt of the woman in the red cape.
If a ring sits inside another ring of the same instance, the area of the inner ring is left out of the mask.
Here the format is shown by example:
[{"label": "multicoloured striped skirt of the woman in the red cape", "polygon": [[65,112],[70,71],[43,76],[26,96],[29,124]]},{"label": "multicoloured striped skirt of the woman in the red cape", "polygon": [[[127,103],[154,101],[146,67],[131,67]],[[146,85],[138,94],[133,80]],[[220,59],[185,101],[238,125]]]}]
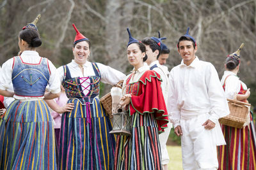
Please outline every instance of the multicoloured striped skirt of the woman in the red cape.
[{"label": "multicoloured striped skirt of the woman in the red cape", "polygon": [[118,136],[115,169],[162,169],[161,149],[154,114],[134,113],[131,136]]}]

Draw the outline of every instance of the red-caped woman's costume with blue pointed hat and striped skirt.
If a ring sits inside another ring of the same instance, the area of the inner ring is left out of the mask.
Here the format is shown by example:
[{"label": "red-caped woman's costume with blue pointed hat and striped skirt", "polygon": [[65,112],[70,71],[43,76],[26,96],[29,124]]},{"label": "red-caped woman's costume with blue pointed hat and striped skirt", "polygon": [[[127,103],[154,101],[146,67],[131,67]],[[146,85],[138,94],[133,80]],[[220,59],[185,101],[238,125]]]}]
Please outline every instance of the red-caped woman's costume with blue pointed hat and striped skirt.
[{"label": "red-caped woman's costume with blue pointed hat and striped skirt", "polygon": [[[138,42],[127,31],[127,46]],[[131,136],[118,136],[114,169],[162,169],[158,133],[164,132],[168,117],[159,74],[142,66],[126,76],[123,92],[132,94],[127,106]]]}]

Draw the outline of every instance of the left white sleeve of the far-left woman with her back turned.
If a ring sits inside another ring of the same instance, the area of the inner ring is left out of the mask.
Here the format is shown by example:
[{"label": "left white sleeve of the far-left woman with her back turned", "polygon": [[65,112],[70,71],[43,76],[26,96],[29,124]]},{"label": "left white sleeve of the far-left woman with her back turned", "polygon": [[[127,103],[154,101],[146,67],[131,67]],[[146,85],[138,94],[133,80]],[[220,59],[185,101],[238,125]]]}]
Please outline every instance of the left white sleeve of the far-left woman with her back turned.
[{"label": "left white sleeve of the far-left woman with her back turned", "polygon": [[0,72],[0,89],[7,90],[12,86],[13,58],[4,62]]}]

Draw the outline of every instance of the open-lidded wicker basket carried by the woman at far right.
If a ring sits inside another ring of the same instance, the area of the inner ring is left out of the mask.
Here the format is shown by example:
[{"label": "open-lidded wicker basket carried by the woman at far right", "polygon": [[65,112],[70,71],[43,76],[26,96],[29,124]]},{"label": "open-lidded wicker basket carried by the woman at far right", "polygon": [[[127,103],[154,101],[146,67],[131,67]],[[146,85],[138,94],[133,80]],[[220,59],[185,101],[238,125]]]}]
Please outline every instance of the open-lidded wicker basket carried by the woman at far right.
[{"label": "open-lidded wicker basket carried by the woman at far right", "polygon": [[227,117],[220,118],[220,124],[236,127],[239,129],[243,128],[244,123],[247,121],[248,117],[248,107],[250,107],[251,104],[231,99],[227,100],[230,114],[227,115]]}]

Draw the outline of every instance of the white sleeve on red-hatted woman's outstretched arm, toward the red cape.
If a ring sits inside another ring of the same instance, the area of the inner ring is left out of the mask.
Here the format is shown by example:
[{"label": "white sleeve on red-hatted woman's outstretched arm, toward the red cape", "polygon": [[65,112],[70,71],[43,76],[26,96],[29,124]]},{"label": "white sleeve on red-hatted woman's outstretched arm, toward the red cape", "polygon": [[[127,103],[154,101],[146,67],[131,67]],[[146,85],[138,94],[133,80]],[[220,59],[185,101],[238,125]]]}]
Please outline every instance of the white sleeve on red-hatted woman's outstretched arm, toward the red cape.
[{"label": "white sleeve on red-hatted woman's outstretched arm, toward the red cape", "polygon": [[97,62],[97,66],[99,67],[101,81],[103,83],[108,83],[110,85],[115,85],[120,80],[124,80],[125,74],[113,69],[109,66],[105,66],[104,64],[100,64]]}]

